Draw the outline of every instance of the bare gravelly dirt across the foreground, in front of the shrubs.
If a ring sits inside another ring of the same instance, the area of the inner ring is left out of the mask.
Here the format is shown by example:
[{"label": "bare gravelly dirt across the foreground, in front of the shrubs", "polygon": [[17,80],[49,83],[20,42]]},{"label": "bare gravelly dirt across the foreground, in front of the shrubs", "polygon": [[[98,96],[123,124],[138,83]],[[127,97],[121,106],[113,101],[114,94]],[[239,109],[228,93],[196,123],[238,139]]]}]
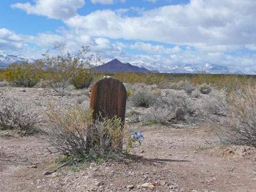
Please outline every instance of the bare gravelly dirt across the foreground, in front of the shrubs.
[{"label": "bare gravelly dirt across the foreground, in front of the shrubs", "polygon": [[[218,139],[213,125],[136,129],[145,140],[132,154],[143,158],[76,172],[62,168],[48,176],[42,173],[55,165],[57,154],[46,156],[44,139],[0,132],[0,191],[127,191],[127,185],[134,185],[131,191],[256,191],[255,148],[206,144]],[[146,182],[156,188],[141,187]]]}]

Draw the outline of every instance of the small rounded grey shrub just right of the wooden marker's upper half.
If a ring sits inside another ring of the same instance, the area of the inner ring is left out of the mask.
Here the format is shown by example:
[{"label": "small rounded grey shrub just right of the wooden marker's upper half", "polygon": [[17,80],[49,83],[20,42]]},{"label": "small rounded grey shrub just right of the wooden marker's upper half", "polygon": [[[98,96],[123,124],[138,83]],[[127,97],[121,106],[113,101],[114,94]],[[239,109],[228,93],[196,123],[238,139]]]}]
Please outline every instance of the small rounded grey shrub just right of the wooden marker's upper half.
[{"label": "small rounded grey shrub just right of the wooden marker's upper half", "polygon": [[152,93],[152,91],[148,91],[145,88],[138,88],[130,96],[130,101],[134,106],[142,106],[145,108],[154,105],[156,99],[157,95]]}]

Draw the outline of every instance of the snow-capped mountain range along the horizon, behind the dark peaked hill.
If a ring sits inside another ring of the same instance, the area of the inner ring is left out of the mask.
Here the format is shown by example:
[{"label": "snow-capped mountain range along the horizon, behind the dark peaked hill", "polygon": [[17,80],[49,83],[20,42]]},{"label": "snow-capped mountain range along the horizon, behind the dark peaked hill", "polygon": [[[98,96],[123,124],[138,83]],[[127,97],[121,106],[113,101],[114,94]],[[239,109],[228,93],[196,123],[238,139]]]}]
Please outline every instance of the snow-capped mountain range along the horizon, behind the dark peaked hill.
[{"label": "snow-capped mountain range along the horizon, behind the dark peaked hill", "polygon": [[[0,67],[5,68],[8,67],[10,63],[17,62],[22,63],[23,61],[28,60],[29,62],[33,62],[36,59],[29,58],[24,55],[7,55],[5,53],[0,52]],[[111,61],[112,59],[102,59],[104,63]],[[127,63],[127,61],[123,61],[123,63]],[[210,73],[210,74],[250,74],[256,75],[255,72],[247,72],[244,73],[242,71],[233,69],[231,67],[219,66],[219,65],[211,65],[206,63],[203,66],[198,65],[179,65],[179,66],[163,66],[157,62],[144,62],[143,60],[139,61],[129,61],[131,65],[137,66],[140,68],[145,68],[150,71],[158,71],[160,73]],[[98,63],[101,65],[102,63]]]}]

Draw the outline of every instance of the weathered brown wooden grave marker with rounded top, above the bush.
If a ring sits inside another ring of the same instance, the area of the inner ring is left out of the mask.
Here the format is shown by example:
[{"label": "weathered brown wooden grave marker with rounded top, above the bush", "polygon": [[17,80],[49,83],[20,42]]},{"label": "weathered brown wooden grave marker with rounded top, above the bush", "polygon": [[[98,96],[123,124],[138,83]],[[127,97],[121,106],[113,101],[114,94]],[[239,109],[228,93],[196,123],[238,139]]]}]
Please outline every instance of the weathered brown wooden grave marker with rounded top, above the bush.
[{"label": "weathered brown wooden grave marker with rounded top, above the bush", "polygon": [[[126,89],[121,81],[112,77],[97,81],[91,90],[90,108],[93,109],[93,118],[102,117],[121,118],[124,125]],[[122,141],[120,141],[120,148]]]}]

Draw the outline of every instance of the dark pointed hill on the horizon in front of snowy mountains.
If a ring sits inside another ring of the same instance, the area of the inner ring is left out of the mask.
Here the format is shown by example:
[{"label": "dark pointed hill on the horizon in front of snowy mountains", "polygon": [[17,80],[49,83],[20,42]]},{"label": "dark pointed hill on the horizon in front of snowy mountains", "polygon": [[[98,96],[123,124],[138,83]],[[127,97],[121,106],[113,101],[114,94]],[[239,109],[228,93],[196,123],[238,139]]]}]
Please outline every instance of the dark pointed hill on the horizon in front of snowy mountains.
[{"label": "dark pointed hill on the horizon in front of snowy mountains", "polygon": [[131,65],[129,62],[122,63],[118,59],[113,59],[101,66],[95,68],[95,71],[106,72],[136,72],[136,73],[159,73],[158,71],[150,71],[145,68],[140,68]]}]

